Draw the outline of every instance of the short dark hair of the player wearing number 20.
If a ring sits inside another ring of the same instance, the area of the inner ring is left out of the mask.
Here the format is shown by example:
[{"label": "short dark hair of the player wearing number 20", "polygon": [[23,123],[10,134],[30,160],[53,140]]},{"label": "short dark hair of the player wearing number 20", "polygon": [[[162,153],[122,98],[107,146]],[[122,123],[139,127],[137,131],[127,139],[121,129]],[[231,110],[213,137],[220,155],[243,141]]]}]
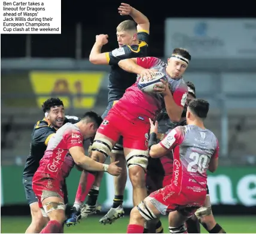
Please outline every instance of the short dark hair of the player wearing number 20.
[{"label": "short dark hair of the player wearing number 20", "polygon": [[208,101],[197,98],[191,100],[190,103],[188,103],[188,107],[194,113],[194,115],[201,119],[205,119],[207,117],[209,106],[210,104]]}]

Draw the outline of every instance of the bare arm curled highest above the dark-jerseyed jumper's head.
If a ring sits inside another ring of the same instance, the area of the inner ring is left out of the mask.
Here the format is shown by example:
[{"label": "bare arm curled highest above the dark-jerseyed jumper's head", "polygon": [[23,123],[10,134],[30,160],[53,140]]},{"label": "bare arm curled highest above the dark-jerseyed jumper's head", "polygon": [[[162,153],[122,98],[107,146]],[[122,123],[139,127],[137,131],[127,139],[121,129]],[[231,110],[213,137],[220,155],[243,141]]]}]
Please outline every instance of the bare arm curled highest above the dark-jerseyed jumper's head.
[{"label": "bare arm curled highest above the dark-jerseyed jumper's head", "polygon": [[118,13],[121,16],[131,16],[132,19],[138,24],[138,32],[150,33],[150,21],[147,16],[141,13],[141,11],[136,10],[134,7],[131,7],[129,4],[121,3],[118,8]]}]

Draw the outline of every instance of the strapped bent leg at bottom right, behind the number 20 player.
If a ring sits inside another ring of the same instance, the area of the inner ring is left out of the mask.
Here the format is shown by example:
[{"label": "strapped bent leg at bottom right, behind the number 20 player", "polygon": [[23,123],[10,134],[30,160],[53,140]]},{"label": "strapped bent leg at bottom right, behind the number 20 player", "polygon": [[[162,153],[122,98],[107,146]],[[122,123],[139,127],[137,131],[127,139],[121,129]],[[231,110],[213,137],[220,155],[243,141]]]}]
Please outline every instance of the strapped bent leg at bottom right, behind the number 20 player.
[{"label": "strapped bent leg at bottom right, behind the number 20 player", "polygon": [[205,227],[209,233],[225,233],[225,230],[214,219],[209,194],[206,196],[203,207],[200,207],[195,214],[202,226]]}]

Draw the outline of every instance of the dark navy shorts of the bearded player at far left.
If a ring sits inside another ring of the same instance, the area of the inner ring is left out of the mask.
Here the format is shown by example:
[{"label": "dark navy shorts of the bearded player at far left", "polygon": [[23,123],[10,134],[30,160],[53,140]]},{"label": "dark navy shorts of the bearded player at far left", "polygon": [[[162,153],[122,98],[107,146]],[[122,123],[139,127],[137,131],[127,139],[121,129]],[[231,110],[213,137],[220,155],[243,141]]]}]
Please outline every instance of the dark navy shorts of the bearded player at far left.
[{"label": "dark navy shorts of the bearded player at far left", "polygon": [[[23,177],[23,180],[22,180],[28,204],[32,204],[33,202],[38,202],[38,199],[36,198],[36,195],[32,189],[32,178],[33,177]],[[64,203],[68,204],[68,189],[66,187],[66,182],[62,187],[62,191],[64,193]]]}]

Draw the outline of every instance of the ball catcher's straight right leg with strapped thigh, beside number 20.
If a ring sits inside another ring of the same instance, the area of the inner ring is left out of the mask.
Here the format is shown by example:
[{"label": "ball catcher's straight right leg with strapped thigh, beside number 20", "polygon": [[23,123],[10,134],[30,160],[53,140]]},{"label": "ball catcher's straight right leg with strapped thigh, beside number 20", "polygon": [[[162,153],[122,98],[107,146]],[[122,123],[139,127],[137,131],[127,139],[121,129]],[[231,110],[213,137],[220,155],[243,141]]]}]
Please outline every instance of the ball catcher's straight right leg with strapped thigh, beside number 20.
[{"label": "ball catcher's straight right leg with strapped thigh, beside number 20", "polygon": [[148,150],[124,148],[124,154],[133,186],[133,205],[138,205],[147,197],[145,170],[148,165]]}]

